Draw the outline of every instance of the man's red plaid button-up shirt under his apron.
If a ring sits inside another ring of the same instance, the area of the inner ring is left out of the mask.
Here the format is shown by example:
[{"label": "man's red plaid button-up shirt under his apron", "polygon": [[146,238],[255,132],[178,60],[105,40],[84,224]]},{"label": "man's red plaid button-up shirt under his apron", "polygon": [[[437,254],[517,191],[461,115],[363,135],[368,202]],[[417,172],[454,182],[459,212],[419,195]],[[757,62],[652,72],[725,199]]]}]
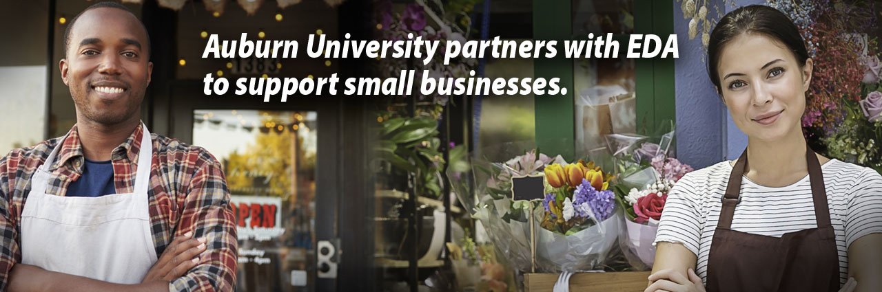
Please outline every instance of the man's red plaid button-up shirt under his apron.
[{"label": "man's red plaid button-up shirt under his apron", "polygon": [[[116,193],[131,193],[135,185],[143,128],[139,125],[112,153]],[[31,175],[49,157],[60,138],[34,147],[12,150],[0,158],[0,291],[9,285],[9,272],[21,260],[21,211],[31,190]],[[175,139],[151,135],[153,164],[148,200],[153,246],[159,257],[173,237],[193,231],[206,237],[206,252],[188,274],[171,281],[176,291],[233,291],[236,275],[235,215],[229,205],[221,164],[208,151]],[[77,126],[59,150],[46,193],[64,195],[82,174],[85,157]],[[44,235],[52,240],[51,234]],[[64,245],[64,243],[58,243]],[[112,252],[112,251],[108,251]]]}]

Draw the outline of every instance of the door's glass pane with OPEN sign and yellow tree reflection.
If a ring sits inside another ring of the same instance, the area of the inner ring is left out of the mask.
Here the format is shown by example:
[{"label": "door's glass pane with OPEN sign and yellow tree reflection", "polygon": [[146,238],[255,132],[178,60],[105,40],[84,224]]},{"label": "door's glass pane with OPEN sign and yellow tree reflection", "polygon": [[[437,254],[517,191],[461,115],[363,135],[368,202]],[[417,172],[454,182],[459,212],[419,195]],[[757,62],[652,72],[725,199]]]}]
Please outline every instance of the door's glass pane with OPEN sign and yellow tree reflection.
[{"label": "door's glass pane with OPEN sign and yellow tree reflection", "polygon": [[193,143],[223,165],[239,237],[239,291],[313,291],[315,112],[196,110]]}]

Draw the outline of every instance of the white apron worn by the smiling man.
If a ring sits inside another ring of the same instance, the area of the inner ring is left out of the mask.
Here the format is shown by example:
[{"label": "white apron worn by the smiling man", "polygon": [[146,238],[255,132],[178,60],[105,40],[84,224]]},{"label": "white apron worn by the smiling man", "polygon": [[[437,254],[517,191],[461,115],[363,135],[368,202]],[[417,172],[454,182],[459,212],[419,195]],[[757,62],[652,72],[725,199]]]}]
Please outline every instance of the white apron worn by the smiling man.
[{"label": "white apron worn by the smiling man", "polygon": [[119,284],[140,283],[156,262],[147,186],[153,142],[144,135],[134,193],[66,197],[46,193],[49,166],[62,140],[31,179],[21,214],[21,262],[49,271]]}]

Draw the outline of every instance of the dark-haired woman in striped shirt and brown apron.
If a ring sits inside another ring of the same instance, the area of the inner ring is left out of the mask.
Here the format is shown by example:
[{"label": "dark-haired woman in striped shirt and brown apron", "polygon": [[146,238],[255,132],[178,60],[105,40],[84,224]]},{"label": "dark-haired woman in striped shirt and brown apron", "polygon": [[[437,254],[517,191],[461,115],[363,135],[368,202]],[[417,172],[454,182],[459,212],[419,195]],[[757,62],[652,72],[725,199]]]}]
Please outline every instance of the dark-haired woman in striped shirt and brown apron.
[{"label": "dark-haired woman in striped shirt and brown apron", "polygon": [[793,21],[762,5],[729,12],[707,56],[748,146],[671,190],[647,291],[879,291],[882,176],[805,142],[814,63]]}]

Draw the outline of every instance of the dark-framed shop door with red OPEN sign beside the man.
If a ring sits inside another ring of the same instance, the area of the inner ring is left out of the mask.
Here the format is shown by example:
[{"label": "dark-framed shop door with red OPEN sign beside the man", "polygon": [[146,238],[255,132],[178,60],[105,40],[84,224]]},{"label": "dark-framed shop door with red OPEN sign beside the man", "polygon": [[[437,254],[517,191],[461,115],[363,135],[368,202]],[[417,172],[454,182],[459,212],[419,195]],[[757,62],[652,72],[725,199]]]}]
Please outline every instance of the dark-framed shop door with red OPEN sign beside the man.
[{"label": "dark-framed shop door with red OPEN sign beside the man", "polygon": [[337,102],[206,97],[200,85],[171,84],[168,130],[224,169],[239,238],[236,290],[337,290],[347,240],[336,232]]}]

